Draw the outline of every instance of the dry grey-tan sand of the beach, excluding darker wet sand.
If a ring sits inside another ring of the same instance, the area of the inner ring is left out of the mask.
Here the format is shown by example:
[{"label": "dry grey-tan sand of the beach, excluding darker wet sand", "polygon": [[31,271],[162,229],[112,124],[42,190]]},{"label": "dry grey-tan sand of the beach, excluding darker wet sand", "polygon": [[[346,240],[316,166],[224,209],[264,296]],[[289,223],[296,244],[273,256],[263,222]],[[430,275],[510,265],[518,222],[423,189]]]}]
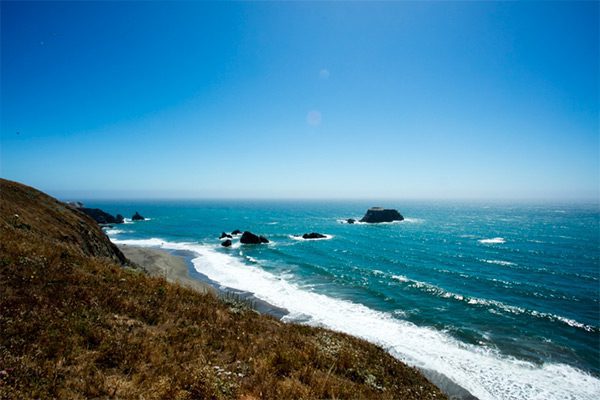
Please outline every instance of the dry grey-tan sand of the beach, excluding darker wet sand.
[{"label": "dry grey-tan sand of the beach, excluding darker wet sand", "polygon": [[216,294],[215,288],[190,277],[186,260],[165,250],[150,247],[119,245],[119,249],[130,261],[152,276],[162,276],[168,282],[197,290],[200,293]]}]

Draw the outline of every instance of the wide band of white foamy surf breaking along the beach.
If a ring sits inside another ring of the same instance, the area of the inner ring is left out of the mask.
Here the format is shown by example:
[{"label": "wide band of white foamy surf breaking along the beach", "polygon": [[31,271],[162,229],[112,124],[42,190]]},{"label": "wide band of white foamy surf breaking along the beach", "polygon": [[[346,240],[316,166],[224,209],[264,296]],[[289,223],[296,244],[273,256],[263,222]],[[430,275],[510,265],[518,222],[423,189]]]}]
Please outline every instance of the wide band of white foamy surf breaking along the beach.
[{"label": "wide band of white foamy surf breaking along the beach", "polygon": [[364,338],[408,364],[447,376],[481,400],[595,400],[600,396],[600,380],[577,368],[562,363],[539,366],[462,343],[444,332],[399,320],[390,313],[304,290],[213,246],[161,239],[115,242],[193,251],[198,272],[287,309],[290,314],[284,317],[286,320],[305,321]]}]

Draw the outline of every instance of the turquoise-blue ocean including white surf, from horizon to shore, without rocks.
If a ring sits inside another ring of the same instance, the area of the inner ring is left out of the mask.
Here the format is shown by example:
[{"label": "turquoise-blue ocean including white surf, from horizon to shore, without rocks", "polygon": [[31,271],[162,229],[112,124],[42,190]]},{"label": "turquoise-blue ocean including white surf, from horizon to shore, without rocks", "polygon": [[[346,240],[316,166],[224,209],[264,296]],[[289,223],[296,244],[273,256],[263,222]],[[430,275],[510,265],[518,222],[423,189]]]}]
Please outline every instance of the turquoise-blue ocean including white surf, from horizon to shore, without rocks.
[{"label": "turquoise-blue ocean including white surf, from horizon to shore, without rocks", "polygon": [[[598,204],[402,201],[402,222],[346,224],[367,202],[89,201],[150,219],[117,243],[194,252],[219,284],[285,320],[375,342],[480,399],[600,396]],[[268,245],[220,246],[250,230]],[[300,240],[307,232],[325,240]]]}]

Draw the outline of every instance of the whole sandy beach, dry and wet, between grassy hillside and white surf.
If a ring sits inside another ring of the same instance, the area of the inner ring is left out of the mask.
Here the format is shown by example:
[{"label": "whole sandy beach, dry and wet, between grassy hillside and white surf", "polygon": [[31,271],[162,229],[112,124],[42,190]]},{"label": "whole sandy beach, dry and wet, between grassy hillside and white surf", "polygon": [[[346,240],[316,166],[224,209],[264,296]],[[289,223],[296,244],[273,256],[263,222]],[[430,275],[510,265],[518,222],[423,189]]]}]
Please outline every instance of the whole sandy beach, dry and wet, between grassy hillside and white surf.
[{"label": "whole sandy beach, dry and wet, between grassy hillside and white surf", "polygon": [[[232,297],[235,300],[242,300],[251,304],[251,308],[260,314],[271,315],[278,320],[289,314],[288,310],[258,299],[251,292],[220,285],[196,271],[192,260],[197,256],[190,250],[168,250],[127,244],[119,244],[118,247],[128,259],[152,276],[162,276],[169,282],[182,284],[201,293],[211,293],[224,300]],[[417,369],[451,399],[478,400],[445,375],[434,370]]]}]

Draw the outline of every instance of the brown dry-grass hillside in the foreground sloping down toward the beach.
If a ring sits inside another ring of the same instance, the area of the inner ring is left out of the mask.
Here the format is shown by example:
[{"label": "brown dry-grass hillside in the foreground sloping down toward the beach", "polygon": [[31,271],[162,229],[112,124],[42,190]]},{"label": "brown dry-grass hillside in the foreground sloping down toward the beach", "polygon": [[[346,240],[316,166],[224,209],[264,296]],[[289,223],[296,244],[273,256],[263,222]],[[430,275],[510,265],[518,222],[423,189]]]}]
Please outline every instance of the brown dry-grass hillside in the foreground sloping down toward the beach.
[{"label": "brown dry-grass hillside in the foreground sloping down toward the beach", "polygon": [[445,398],[363,340],[124,267],[35,189],[0,180],[0,198],[0,398]]}]

